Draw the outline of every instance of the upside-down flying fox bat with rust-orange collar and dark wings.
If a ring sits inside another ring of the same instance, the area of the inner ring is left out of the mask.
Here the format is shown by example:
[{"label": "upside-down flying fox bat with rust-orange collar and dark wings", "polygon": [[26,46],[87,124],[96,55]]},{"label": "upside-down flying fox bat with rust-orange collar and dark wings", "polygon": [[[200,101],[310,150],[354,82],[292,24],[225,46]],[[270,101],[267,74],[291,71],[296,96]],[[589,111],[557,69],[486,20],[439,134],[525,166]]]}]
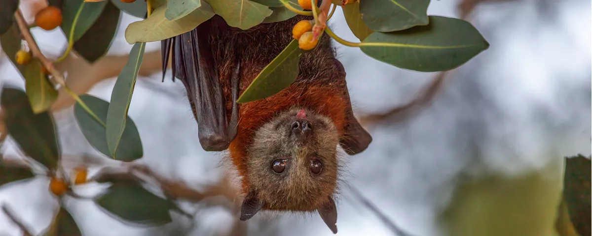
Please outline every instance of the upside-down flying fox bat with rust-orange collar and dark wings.
[{"label": "upside-down flying fox bat with rust-orange collar and dark wings", "polygon": [[161,42],[163,71],[172,51],[173,80],[186,88],[202,148],[230,150],[246,195],[241,220],[260,209],[318,211],[336,233],[337,145],[355,155],[372,137],[353,116],[345,70],[329,37],[302,55],[291,86],[265,99],[236,102],[303,19],[312,17],[240,30],[216,15]]}]

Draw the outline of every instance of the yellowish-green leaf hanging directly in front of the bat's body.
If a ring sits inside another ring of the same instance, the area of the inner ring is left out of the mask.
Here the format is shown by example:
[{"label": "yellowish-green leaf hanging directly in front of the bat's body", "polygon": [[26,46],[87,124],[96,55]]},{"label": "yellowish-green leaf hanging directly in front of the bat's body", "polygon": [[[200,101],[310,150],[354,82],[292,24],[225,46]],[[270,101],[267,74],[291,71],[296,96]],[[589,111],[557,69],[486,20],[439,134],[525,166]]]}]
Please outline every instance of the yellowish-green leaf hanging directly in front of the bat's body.
[{"label": "yellowish-green leaf hanging directly in front of the bat's body", "polygon": [[298,40],[292,40],[284,50],[274,58],[237,100],[248,103],[272,96],[290,86],[298,77],[298,61],[303,51],[298,47]]}]

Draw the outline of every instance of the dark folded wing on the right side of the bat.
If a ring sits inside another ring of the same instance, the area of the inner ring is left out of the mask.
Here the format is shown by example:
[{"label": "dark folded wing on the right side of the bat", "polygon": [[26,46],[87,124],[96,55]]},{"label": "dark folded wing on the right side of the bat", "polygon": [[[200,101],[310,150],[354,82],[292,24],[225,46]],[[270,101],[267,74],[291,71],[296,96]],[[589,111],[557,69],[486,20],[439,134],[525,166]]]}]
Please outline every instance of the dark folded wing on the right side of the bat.
[{"label": "dark folded wing on the right side of the bat", "polygon": [[[340,76],[342,76],[343,84],[346,84],[345,68],[343,68],[343,64],[341,64],[341,62],[337,59],[335,59],[335,63],[337,64]],[[352,102],[349,99],[349,91],[347,85],[345,85],[344,93],[346,99],[348,100],[348,108],[346,110],[348,123],[345,126],[345,132],[343,133],[343,137],[339,140],[339,145],[349,155],[356,155],[368,148],[368,145],[372,142],[372,136],[370,136],[370,134],[360,125],[358,119],[356,119],[356,117],[353,116]]]}]

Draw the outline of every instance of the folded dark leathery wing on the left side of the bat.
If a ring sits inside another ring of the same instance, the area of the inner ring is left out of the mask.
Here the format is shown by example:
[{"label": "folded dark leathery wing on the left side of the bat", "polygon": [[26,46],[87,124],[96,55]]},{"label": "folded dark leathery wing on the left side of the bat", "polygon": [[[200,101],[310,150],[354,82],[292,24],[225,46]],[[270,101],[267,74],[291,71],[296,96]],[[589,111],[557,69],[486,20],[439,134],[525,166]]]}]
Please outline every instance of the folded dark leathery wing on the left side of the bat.
[{"label": "folded dark leathery wing on the left side of the bat", "polygon": [[[206,151],[222,151],[228,148],[237,133],[240,61],[235,60],[231,75],[233,107],[229,120],[209,42],[210,25],[211,19],[195,30],[164,40],[161,44],[164,48],[170,47],[169,44],[173,47],[173,78],[178,77],[187,90],[198,123],[201,147]],[[163,64],[168,60],[168,54],[168,51],[162,51]]]}]

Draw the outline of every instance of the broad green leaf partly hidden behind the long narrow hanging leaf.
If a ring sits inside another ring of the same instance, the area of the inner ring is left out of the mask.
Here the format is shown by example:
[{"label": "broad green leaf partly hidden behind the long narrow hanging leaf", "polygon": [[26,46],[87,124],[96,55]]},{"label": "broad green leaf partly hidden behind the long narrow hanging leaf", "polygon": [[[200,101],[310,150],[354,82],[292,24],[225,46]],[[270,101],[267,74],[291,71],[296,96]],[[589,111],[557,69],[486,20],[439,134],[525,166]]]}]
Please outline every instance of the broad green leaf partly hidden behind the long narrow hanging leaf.
[{"label": "broad green leaf partly hidden behind the long narrow hanging leaf", "polygon": [[[96,116],[101,119],[103,123],[107,120],[107,110],[109,103],[98,97],[90,96],[88,94],[80,96]],[[101,123],[97,122],[88,112],[86,112],[80,104],[76,103],[74,106],[74,116],[81,127],[82,134],[86,137],[92,147],[103,153],[105,156],[111,156],[111,152],[107,146],[107,129]],[[124,162],[131,162],[137,160],[144,155],[142,150],[142,142],[140,133],[133,120],[128,116],[126,120],[126,129],[121,135],[120,146],[117,149],[117,159]]]}]

